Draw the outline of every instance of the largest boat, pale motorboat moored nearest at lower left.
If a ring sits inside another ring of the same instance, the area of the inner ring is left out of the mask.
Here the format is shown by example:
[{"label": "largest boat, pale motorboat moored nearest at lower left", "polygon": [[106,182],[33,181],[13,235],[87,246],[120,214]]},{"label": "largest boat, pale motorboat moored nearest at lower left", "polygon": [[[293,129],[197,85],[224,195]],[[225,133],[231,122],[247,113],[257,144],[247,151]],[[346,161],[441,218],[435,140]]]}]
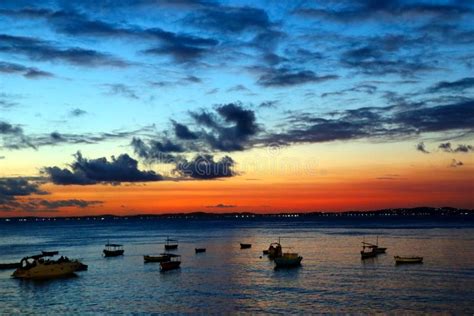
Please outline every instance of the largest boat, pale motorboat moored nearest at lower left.
[{"label": "largest boat, pale motorboat moored nearest at lower left", "polygon": [[58,260],[44,260],[43,255],[25,257],[12,276],[19,279],[51,279],[72,275],[82,263],[61,257]]}]

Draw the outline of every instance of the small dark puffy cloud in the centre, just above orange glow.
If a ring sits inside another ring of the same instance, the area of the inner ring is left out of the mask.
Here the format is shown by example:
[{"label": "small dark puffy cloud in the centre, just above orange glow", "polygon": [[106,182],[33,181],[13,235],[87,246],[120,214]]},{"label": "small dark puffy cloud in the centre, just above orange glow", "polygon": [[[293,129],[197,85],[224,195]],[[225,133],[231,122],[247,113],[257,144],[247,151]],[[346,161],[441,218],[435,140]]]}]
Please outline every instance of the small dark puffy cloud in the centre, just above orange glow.
[{"label": "small dark puffy cloud in the centre, just above orange glow", "polygon": [[212,155],[197,155],[190,161],[186,159],[179,161],[176,164],[174,172],[183,177],[211,180],[235,176],[236,173],[233,170],[234,165],[234,160],[229,156],[215,161]]}]

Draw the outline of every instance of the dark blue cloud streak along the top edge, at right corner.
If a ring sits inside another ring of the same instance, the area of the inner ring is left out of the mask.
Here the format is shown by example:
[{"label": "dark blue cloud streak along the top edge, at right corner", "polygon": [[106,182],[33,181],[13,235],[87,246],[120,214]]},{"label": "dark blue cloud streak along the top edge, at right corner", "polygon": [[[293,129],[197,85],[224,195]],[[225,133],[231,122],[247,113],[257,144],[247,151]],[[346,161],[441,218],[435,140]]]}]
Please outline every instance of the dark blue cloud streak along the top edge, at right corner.
[{"label": "dark blue cloud streak along the top edge, at right corner", "polygon": [[[328,2],[330,3],[330,2]],[[456,19],[472,13],[468,2],[429,3],[423,1],[340,1],[338,9],[304,8],[297,14],[342,23],[358,22],[368,19],[413,19],[437,18]]]}]

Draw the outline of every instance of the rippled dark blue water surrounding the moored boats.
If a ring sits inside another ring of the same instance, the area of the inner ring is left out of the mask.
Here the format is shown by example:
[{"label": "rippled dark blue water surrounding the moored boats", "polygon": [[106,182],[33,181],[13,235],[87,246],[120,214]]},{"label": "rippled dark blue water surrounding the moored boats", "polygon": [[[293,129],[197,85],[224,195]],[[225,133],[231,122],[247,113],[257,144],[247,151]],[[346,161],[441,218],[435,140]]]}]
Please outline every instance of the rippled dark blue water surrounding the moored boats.
[{"label": "rippled dark blue water surrounding the moored boats", "polygon": [[[168,235],[179,239],[182,268],[160,273],[142,256],[162,252]],[[388,254],[362,262],[362,238],[376,235]],[[300,268],[274,270],[260,258],[278,236],[304,257]],[[108,239],[125,256],[101,257]],[[81,258],[89,271],[43,282],[0,271],[0,314],[474,313],[472,219],[0,222],[0,262],[40,250]],[[395,266],[397,254],[425,263]]]}]

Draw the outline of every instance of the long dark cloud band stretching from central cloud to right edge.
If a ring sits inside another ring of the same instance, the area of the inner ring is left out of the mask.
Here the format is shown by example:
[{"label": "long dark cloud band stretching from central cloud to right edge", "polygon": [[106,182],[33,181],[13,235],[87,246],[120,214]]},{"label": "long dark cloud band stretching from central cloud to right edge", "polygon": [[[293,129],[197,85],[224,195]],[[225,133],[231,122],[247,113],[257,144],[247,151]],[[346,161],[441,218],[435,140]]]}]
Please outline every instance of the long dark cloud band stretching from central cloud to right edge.
[{"label": "long dark cloud band stretching from central cloud to right edge", "polygon": [[288,128],[279,133],[267,133],[256,142],[317,143],[361,138],[391,140],[443,131],[472,134],[474,101],[438,106],[401,103],[331,112],[326,116],[290,113],[284,126]]}]

